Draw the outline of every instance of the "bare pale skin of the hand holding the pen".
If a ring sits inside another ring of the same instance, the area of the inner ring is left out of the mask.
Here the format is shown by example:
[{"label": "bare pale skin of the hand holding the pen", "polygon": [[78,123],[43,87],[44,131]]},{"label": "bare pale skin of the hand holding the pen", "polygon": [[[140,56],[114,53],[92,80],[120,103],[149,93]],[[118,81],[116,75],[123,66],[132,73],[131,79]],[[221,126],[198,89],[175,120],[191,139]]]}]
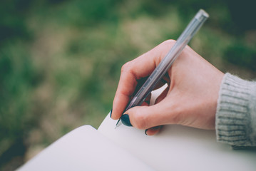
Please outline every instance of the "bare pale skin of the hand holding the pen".
[{"label": "bare pale skin of the hand holding the pen", "polygon": [[[111,118],[121,117],[138,81],[150,76],[174,43],[173,40],[164,41],[123,65]],[[223,76],[224,73],[186,46],[159,83],[158,87],[168,83],[168,88],[157,98],[155,105],[148,106],[144,102],[142,106],[126,111],[131,125],[145,129],[147,135],[155,135],[160,125],[168,124],[215,129],[217,98]]]}]

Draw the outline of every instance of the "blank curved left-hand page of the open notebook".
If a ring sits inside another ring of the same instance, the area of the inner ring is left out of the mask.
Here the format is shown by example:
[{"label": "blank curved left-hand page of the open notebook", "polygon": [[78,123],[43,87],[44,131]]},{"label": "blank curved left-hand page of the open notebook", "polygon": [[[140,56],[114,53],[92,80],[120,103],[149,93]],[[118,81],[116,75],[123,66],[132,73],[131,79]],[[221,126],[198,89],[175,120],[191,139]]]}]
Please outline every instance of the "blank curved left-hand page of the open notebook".
[{"label": "blank curved left-hand page of the open notebook", "polygon": [[19,171],[152,170],[89,125],[76,128],[27,162]]}]

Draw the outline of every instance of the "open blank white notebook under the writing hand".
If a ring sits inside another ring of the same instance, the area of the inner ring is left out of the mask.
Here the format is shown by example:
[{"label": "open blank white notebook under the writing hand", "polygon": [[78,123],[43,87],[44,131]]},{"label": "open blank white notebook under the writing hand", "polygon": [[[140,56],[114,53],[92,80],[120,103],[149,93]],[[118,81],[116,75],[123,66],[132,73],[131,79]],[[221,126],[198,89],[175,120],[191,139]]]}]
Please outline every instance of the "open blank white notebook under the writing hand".
[{"label": "open blank white notebook under the writing hand", "polygon": [[[160,91],[153,93],[153,98]],[[255,170],[255,150],[232,150],[214,130],[165,125],[157,135],[109,116],[98,130],[84,125],[53,142],[18,170]]]}]

